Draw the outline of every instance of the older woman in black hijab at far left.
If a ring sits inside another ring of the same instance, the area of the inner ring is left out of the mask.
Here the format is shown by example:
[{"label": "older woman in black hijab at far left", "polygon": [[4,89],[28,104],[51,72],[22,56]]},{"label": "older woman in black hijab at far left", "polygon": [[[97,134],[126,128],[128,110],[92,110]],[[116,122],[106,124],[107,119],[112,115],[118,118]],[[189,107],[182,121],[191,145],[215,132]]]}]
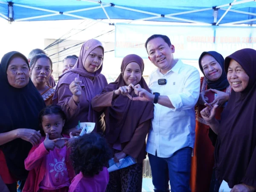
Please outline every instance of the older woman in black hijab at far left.
[{"label": "older woman in black hijab at far left", "polygon": [[[29,79],[29,63],[20,52],[6,53],[0,63],[0,175],[10,192],[26,180],[24,167],[32,145],[41,139],[38,114],[44,100]],[[21,184],[23,186],[23,183]]]}]

